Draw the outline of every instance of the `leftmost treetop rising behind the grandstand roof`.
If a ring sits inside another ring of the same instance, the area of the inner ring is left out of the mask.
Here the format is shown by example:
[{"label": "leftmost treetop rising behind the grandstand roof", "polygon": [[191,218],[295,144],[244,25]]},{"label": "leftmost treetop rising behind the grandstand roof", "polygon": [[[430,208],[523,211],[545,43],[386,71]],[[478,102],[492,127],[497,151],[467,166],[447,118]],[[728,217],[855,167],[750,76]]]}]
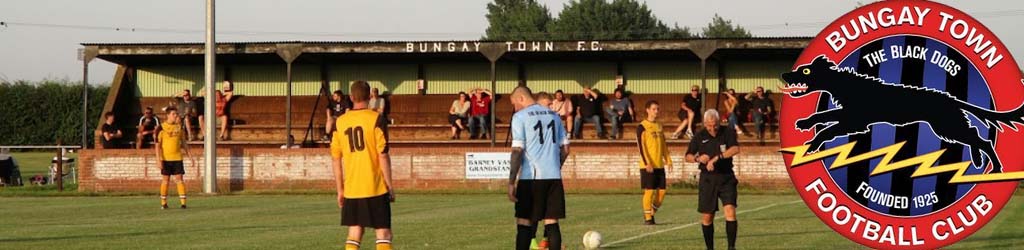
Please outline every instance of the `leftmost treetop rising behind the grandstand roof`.
[{"label": "leftmost treetop rising behind the grandstand roof", "polygon": [[487,4],[484,40],[544,40],[551,11],[536,0],[495,0]]}]

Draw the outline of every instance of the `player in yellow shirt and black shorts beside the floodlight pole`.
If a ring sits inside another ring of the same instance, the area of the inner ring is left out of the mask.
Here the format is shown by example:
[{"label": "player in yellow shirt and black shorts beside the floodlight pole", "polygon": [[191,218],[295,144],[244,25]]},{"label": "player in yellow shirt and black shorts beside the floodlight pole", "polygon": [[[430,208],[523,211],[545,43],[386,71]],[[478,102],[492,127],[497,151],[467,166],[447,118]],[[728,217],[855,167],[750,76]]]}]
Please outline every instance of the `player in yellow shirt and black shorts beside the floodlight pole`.
[{"label": "player in yellow shirt and black shorts beside the floodlight pole", "polygon": [[167,118],[157,129],[157,147],[154,147],[157,151],[160,174],[164,177],[163,181],[160,182],[160,208],[167,209],[167,185],[173,175],[178,185],[178,199],[183,209],[186,197],[185,180],[182,177],[185,174],[185,168],[181,162],[181,152],[183,151],[188,156],[193,166],[196,165],[196,159],[188,153],[188,145],[182,136],[184,134],[181,133],[181,124],[178,123],[177,109],[169,107],[165,112]]}]

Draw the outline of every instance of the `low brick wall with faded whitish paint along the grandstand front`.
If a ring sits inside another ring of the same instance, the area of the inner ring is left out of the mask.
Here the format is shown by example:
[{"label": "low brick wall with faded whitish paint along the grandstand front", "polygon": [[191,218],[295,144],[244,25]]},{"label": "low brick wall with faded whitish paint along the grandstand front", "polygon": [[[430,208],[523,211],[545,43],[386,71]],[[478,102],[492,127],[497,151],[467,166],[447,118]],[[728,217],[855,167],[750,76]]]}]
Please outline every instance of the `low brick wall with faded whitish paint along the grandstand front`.
[{"label": "low brick wall with faded whitish paint along the grandstand front", "polygon": [[[217,177],[232,180],[285,181],[333,180],[331,156],[315,151],[252,153],[242,156],[217,158]],[[639,179],[639,158],[632,152],[577,151],[566,160],[563,175],[573,179]],[[699,173],[695,164],[685,163],[682,152],[673,154],[671,179],[692,179]],[[396,180],[462,180],[465,177],[463,153],[392,154],[393,177]],[[185,163],[185,178],[202,177],[203,158],[196,158],[197,165]],[[748,152],[736,156],[738,177],[788,179],[788,174],[778,153],[771,151]],[[97,155],[93,175],[100,180],[160,179],[160,169],[154,156]]]}]

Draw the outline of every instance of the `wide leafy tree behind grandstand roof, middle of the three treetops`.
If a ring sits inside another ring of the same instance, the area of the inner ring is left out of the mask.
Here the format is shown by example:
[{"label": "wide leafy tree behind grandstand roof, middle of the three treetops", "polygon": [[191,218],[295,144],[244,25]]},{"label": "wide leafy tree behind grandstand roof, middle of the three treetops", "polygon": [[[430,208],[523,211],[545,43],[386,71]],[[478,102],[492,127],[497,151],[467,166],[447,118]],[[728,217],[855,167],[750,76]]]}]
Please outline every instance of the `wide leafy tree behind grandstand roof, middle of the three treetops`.
[{"label": "wide leafy tree behind grandstand roof, middle of the three treetops", "polygon": [[548,25],[551,38],[559,40],[628,40],[689,38],[689,29],[670,29],[647,4],[636,0],[574,0]]}]

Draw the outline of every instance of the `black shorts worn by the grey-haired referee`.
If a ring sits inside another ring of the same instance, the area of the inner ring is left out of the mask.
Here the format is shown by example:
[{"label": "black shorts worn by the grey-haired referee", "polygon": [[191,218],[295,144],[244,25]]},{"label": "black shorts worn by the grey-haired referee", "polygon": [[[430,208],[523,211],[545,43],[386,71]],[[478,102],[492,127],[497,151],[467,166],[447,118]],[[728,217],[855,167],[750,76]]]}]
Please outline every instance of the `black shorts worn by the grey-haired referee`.
[{"label": "black shorts worn by the grey-haired referee", "polygon": [[718,211],[718,200],[722,205],[736,205],[736,175],[701,173],[697,183],[697,212],[714,213]]}]

